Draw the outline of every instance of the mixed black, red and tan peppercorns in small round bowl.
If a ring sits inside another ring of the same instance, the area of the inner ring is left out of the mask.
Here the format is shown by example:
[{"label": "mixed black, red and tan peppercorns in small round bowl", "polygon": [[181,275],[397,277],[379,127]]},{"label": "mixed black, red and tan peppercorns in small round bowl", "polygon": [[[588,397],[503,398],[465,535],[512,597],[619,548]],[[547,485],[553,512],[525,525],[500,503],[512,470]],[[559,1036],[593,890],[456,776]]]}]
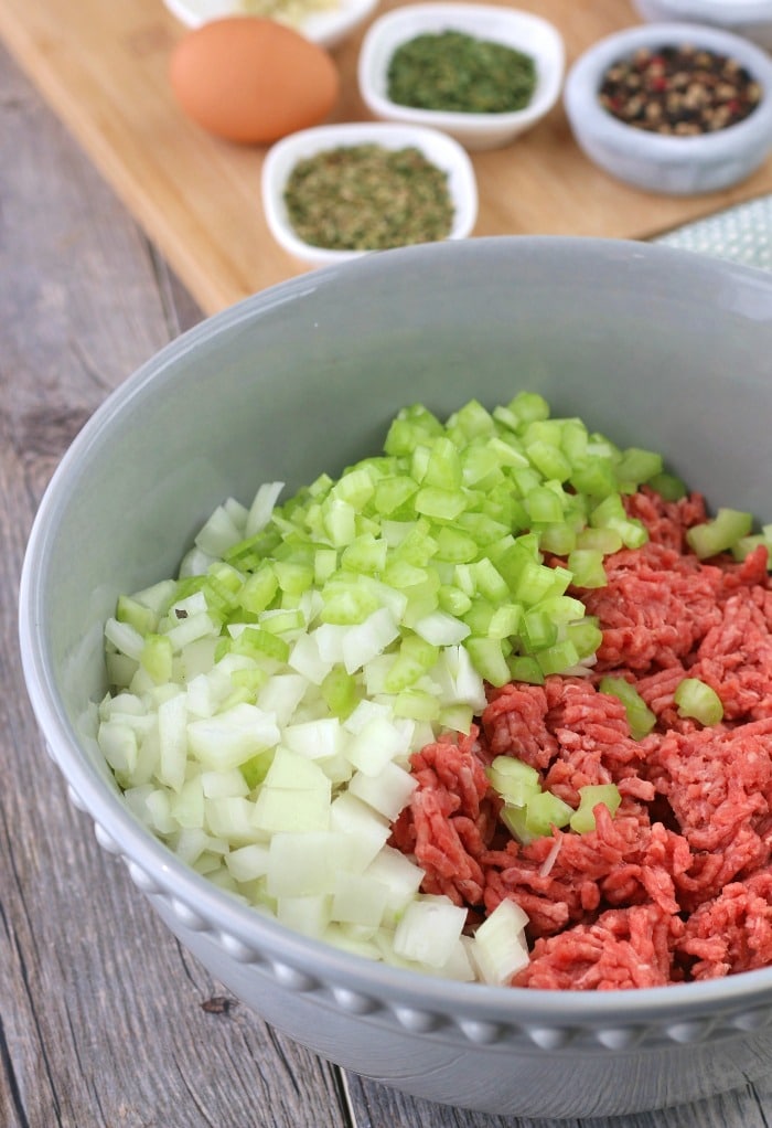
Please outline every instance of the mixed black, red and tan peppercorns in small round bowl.
[{"label": "mixed black, red and tan peppercorns in small round bowl", "polygon": [[690,136],[743,121],[758,105],[761,87],[737,60],[683,44],[640,49],[614,63],[600,99],[628,125]]}]

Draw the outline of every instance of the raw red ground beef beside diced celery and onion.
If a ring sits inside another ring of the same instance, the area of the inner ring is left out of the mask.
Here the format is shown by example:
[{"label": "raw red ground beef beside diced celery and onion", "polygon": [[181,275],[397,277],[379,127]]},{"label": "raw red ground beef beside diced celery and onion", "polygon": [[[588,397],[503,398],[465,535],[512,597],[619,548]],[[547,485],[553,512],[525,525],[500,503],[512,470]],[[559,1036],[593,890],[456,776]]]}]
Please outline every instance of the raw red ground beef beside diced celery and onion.
[{"label": "raw red ground beef beside diced celery and onion", "polygon": [[[610,989],[710,979],[772,963],[772,587],[766,549],[700,562],[685,532],[699,495],[627,499],[649,540],[606,558],[609,583],[574,591],[603,641],[589,677],[490,689],[468,737],[412,759],[418,787],[392,840],[425,870],[423,889],[469,913],[504,898],[529,915],[531,961],[514,986]],[[562,563],[557,561],[556,563]],[[630,735],[600,693],[623,676],[657,717]],[[680,716],[684,677],[721,698],[724,720]],[[571,807],[613,782],[622,802],[587,834],[521,845],[498,819],[485,768],[500,755],[536,768]]]}]

